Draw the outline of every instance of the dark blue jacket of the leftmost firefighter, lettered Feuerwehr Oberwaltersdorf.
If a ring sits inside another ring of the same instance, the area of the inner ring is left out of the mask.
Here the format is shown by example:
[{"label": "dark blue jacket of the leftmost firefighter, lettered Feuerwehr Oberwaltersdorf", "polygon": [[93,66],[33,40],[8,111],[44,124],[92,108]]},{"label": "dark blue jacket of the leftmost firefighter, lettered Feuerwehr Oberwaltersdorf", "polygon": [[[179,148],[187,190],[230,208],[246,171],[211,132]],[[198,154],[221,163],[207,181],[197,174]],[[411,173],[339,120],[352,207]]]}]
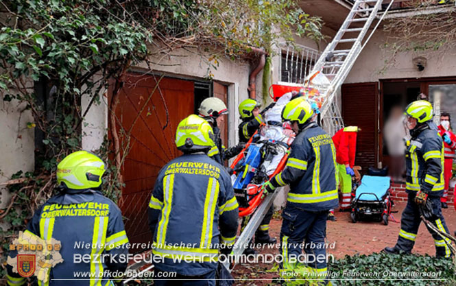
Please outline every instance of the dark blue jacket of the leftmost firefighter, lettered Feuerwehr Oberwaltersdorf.
[{"label": "dark blue jacket of the leftmost firefighter, lettered Feuerwehr Oberwaltersdorf", "polygon": [[[121,260],[122,256],[128,254],[128,248],[125,246],[128,238],[123,227],[121,211],[112,200],[99,191],[67,189],[50,198],[35,211],[25,233],[61,242],[59,252],[63,262],[51,267],[49,281],[38,281],[40,286],[110,285],[109,277],[104,277],[103,272],[124,272],[128,264],[126,257]],[[16,251],[12,251],[10,256],[16,257],[16,254]],[[73,263],[75,254],[81,255],[82,262]],[[93,257],[97,254],[101,255],[91,259],[90,263],[84,262],[84,257]],[[105,257],[101,259],[100,256]],[[111,257],[113,259],[110,259]],[[43,262],[45,261],[41,263]],[[38,265],[40,261],[36,263]],[[80,280],[77,280],[75,272],[90,273],[90,281],[87,279],[89,276],[80,276]],[[7,283],[14,286],[23,285],[25,278],[12,272],[12,267],[8,265]]]}]

